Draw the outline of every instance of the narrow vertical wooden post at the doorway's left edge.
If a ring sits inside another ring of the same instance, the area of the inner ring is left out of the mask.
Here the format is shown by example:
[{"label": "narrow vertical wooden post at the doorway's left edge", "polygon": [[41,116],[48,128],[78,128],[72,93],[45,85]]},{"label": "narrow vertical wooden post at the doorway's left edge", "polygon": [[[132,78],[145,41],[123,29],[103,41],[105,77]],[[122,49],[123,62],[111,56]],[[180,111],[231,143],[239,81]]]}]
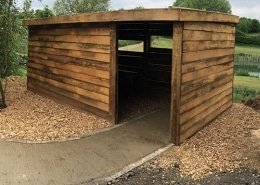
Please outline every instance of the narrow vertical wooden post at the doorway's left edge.
[{"label": "narrow vertical wooden post at the doorway's left edge", "polygon": [[109,117],[112,124],[117,123],[117,82],[116,82],[116,23],[111,23],[110,26],[110,88],[109,88]]}]

